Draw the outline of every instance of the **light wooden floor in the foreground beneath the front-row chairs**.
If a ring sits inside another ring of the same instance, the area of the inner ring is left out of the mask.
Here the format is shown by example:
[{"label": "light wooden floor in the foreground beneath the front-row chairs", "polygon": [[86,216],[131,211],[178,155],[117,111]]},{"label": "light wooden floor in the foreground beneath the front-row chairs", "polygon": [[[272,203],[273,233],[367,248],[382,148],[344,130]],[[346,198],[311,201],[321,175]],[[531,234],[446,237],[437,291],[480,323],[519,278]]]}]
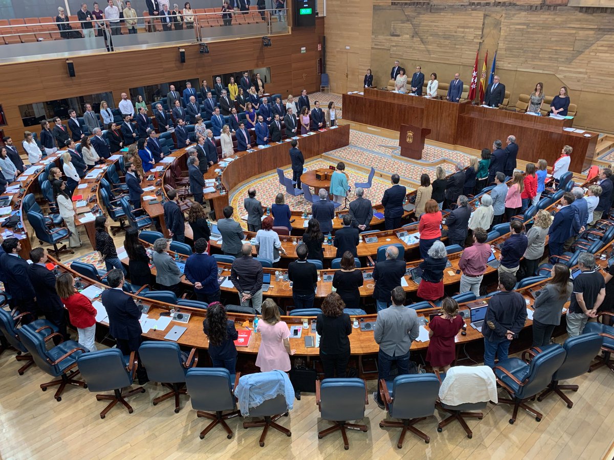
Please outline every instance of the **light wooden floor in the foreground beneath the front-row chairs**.
[{"label": "light wooden floor in the foreground beneath the front-row chairs", "polygon": [[[519,413],[514,425],[508,423],[510,407],[489,405],[484,420],[469,421],[473,439],[467,439],[459,424],[437,432],[443,414],[419,422],[418,429],[430,435],[429,444],[406,435],[397,449],[398,429],[382,429],[385,413],[373,402],[367,406],[367,433],[349,431],[349,451],[343,450],[340,434],[317,439],[317,431],[330,426],[321,420],[313,395],[303,394],[295,401],[289,417],[279,420],[292,430],[292,437],[269,432],[264,448],[258,447],[261,429],[243,429],[239,417],[228,422],[235,432],[232,439],[216,427],[205,437],[198,434],[208,421],[196,418],[188,397],[182,397],[182,410],[173,412],[171,400],[157,406],[153,397],[166,390],[147,383],[147,392],[129,399],[133,414],[116,405],[104,420],[99,412],[105,402],[97,402],[87,389],[71,387],[62,401],[53,399],[52,388],[45,393],[39,385],[52,380],[37,367],[23,376],[14,353],[0,355],[0,459],[111,459],[111,458],[432,458],[432,459],[600,459],[612,444],[614,426],[614,374],[602,367],[575,379],[580,391],[570,393],[575,402],[568,409],[558,397],[535,402],[544,414],[537,423],[529,413]],[[375,381],[369,381],[371,391]],[[503,396],[503,391],[500,391]],[[416,397],[419,397],[416,395]]]}]

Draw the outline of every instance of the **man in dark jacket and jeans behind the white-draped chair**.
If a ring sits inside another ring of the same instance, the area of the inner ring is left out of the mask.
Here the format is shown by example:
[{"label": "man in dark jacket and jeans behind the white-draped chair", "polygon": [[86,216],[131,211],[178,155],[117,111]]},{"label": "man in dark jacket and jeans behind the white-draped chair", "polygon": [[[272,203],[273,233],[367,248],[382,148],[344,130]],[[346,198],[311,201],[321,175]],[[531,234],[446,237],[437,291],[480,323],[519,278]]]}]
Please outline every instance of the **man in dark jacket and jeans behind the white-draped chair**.
[{"label": "man in dark jacket and jeans behind the white-draped chair", "polygon": [[527,306],[522,294],[513,291],[516,277],[511,273],[499,274],[499,293],[488,301],[486,317],[482,326],[484,335],[484,366],[495,366],[495,355],[499,364],[507,361],[510,343],[524,328]]}]

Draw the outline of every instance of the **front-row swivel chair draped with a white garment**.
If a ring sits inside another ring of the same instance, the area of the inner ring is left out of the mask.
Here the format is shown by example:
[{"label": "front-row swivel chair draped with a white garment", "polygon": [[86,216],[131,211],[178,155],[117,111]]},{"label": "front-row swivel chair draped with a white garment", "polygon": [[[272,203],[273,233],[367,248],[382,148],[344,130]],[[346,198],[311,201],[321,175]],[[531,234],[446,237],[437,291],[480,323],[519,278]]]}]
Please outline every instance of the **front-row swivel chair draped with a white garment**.
[{"label": "front-row swivel chair draped with a white garment", "polygon": [[[467,388],[471,389],[470,392],[466,391]],[[465,397],[459,396],[459,393]],[[495,375],[492,374],[492,370],[488,366],[451,367],[441,382],[439,401],[441,408],[451,415],[445,420],[440,421],[437,431],[441,432],[443,427],[457,420],[467,433],[467,437],[472,439],[473,432],[468,427],[464,417],[482,420],[484,418],[483,413],[467,411],[483,410],[489,401],[497,404],[497,381],[495,380]]]}]

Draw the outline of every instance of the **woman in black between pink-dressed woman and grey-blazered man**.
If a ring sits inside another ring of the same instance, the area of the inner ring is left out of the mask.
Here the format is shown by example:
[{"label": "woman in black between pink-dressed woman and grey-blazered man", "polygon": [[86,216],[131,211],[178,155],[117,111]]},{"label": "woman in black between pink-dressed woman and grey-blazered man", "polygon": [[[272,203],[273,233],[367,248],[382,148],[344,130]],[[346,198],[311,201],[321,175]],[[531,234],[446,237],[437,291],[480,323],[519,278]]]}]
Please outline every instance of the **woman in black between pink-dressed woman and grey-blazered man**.
[{"label": "woman in black between pink-dressed woman and grey-blazered man", "polygon": [[322,302],[322,313],[317,315],[316,332],[320,335],[320,359],[324,378],[344,378],[348,367],[350,345],[348,335],[352,323],[348,313],[343,313],[343,300],[330,293]]}]

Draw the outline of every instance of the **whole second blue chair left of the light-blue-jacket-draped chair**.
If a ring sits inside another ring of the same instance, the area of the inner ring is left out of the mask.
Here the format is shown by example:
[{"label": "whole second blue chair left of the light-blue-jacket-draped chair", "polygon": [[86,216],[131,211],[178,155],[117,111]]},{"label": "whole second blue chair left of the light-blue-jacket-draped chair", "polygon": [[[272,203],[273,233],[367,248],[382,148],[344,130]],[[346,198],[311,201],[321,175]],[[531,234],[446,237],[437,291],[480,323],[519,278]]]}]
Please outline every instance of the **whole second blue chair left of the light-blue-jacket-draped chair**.
[{"label": "whole second blue chair left of the light-blue-jacket-draped chair", "polygon": [[139,347],[139,359],[147,369],[149,380],[158,381],[171,390],[153,399],[152,404],[174,397],[175,413],[179,413],[179,395],[187,394],[185,373],[198,362],[196,348],[188,355],[175,342],[143,342]]}]

